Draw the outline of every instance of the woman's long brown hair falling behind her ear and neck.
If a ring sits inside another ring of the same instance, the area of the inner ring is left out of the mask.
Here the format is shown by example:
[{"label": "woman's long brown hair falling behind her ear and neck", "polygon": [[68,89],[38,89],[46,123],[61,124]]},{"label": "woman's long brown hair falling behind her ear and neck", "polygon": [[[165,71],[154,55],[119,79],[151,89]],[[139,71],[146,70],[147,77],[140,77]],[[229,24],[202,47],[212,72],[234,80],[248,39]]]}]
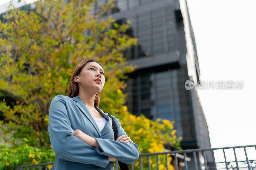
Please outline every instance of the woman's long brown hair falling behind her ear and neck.
[{"label": "woman's long brown hair falling behind her ear and neck", "polygon": [[[102,64],[100,63],[99,59],[95,56],[90,56],[82,60],[80,63],[76,64],[76,67],[73,71],[73,74],[70,79],[69,87],[68,87],[68,93],[67,96],[72,98],[78,95],[79,89],[78,89],[78,84],[77,82],[74,81],[74,77],[78,74],[80,74],[81,70],[87,64],[88,62],[96,62],[100,64],[100,66],[103,68]],[[103,68],[104,70],[104,68]],[[100,92],[96,94],[95,99],[94,99],[94,105],[97,106],[98,108],[100,107]]]}]

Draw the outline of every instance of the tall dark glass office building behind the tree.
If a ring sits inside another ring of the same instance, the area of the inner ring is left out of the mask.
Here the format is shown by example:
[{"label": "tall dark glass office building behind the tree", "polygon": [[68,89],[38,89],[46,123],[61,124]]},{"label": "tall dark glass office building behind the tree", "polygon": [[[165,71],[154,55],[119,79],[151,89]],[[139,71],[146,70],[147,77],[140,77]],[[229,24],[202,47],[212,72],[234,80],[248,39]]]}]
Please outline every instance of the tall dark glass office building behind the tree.
[{"label": "tall dark glass office building behind the tree", "polygon": [[[94,11],[103,3],[107,1],[95,3]],[[115,4],[105,17],[111,15],[119,24],[129,19],[131,28],[126,33],[138,38],[137,46],[124,51],[127,65],[137,65],[126,80],[128,111],[152,120],[174,120],[183,149],[211,147],[197,89],[185,89],[186,80],[195,86],[200,81],[186,0],[115,0]],[[211,166],[212,154],[206,157]]]}]

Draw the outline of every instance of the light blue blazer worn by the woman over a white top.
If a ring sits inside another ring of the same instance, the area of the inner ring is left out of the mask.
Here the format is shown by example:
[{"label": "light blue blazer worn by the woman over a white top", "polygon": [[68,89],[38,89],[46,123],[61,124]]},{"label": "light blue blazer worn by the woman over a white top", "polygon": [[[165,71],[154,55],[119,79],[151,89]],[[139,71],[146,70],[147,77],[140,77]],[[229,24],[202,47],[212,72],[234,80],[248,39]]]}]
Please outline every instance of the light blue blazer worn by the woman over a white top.
[{"label": "light blue blazer worn by the woman over a white top", "polygon": [[[52,99],[48,132],[55,152],[54,170],[113,170],[114,162],[109,162],[108,156],[126,164],[132,164],[139,158],[138,145],[132,141],[115,141],[112,119],[97,106],[95,108],[107,119],[101,131],[79,96],[57,95]],[[128,137],[119,119],[112,117],[118,130],[117,137],[124,134]],[[100,147],[92,147],[75,137],[76,129],[94,137]]]}]

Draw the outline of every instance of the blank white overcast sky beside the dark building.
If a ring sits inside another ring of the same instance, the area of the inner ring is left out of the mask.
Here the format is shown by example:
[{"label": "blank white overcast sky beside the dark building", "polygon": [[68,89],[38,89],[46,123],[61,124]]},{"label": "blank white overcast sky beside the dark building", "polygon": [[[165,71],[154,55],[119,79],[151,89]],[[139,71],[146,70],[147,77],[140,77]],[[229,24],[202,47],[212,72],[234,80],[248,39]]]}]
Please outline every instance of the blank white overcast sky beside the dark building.
[{"label": "blank white overcast sky beside the dark building", "polygon": [[212,148],[255,145],[256,1],[187,2],[201,80],[244,81],[242,90],[198,90]]}]

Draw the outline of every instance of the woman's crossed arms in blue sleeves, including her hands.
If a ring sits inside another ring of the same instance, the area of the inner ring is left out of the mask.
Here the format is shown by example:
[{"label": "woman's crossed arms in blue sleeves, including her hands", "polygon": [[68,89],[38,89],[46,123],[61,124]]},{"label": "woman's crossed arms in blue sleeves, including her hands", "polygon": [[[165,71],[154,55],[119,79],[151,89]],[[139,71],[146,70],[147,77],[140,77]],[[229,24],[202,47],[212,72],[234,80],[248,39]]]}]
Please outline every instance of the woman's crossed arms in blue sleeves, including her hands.
[{"label": "woman's crossed arms in blue sleeves, including her hands", "polygon": [[118,159],[127,164],[134,163],[139,157],[139,147],[132,140],[127,143],[128,136],[119,119],[117,117],[114,119],[118,129],[117,136],[122,136],[119,141],[92,138],[86,136],[87,134],[77,135],[76,132],[75,135],[82,137],[81,140],[74,135],[74,130],[71,128],[66,100],[61,95],[55,96],[50,105],[48,126],[52,150],[59,158],[83,164],[95,164],[104,168],[109,164],[109,157],[114,158],[111,159],[112,161]]}]

